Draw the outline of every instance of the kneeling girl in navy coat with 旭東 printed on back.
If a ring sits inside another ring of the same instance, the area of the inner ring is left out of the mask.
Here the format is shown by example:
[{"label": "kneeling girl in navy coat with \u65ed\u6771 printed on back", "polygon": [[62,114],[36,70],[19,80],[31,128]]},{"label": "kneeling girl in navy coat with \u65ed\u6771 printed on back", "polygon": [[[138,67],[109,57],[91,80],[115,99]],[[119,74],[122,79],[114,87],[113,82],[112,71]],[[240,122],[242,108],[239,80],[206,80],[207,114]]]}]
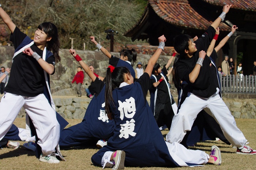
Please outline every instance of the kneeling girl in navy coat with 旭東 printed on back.
[{"label": "kneeling girl in navy coat with \u65ed\u6771 printed on back", "polygon": [[203,151],[187,150],[178,143],[169,144],[163,139],[147,103],[150,75],[166,41],[158,38],[159,47],[148,61],[144,74],[133,83],[133,77],[125,67],[107,69],[105,110],[114,120],[113,136],[108,145],[91,158],[95,166],[124,169],[124,166],[198,166],[221,163],[221,152],[213,146],[210,155]]}]

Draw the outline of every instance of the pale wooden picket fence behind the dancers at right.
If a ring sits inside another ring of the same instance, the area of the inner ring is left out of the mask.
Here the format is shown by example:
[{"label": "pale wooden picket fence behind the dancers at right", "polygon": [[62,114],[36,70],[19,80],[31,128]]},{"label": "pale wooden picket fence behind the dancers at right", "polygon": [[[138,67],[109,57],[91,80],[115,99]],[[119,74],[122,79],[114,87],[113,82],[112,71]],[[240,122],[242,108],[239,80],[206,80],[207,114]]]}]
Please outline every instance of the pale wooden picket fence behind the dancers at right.
[{"label": "pale wooden picket fence behind the dancers at right", "polygon": [[219,75],[221,91],[223,93],[251,93],[256,94],[256,76]]}]

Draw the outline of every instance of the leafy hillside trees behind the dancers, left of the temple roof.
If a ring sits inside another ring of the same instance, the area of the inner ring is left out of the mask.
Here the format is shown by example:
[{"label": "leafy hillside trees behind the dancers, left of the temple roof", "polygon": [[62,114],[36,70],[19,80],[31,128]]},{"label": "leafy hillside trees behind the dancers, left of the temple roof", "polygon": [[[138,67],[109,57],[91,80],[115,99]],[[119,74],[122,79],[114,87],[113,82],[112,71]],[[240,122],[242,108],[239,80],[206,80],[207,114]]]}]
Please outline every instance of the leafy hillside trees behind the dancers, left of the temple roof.
[{"label": "leafy hillside trees behind the dancers, left of the temple roof", "polygon": [[[42,22],[52,22],[59,30],[61,48],[94,50],[90,36],[97,42],[109,46],[106,39],[107,29],[118,31],[114,44],[125,46],[134,44],[123,34],[131,29],[142,16],[147,0],[15,0],[5,1],[2,7],[13,22],[30,37]],[[137,42],[137,41],[136,41]],[[143,42],[141,42],[143,43]]]}]

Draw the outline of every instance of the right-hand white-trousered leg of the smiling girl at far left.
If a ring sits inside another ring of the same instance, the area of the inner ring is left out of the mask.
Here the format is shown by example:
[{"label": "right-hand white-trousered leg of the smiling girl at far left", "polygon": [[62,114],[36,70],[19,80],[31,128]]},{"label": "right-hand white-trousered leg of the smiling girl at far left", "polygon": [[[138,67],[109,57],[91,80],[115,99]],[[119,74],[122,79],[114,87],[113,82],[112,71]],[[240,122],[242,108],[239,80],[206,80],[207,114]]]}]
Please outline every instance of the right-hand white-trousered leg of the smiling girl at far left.
[{"label": "right-hand white-trousered leg of the smiling girl at far left", "polygon": [[60,125],[56,118],[56,112],[44,94],[26,97],[23,107],[33,121],[39,138],[37,144],[42,148],[42,154],[50,156],[52,152],[55,152],[60,138]]}]

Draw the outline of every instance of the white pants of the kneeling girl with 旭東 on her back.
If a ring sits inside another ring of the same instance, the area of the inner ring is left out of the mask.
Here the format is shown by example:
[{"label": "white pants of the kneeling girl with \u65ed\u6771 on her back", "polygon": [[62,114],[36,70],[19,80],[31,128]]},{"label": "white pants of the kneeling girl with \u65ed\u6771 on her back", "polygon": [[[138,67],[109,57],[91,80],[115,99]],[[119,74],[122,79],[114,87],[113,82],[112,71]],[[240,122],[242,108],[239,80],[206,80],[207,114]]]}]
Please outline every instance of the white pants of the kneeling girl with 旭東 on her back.
[{"label": "white pants of the kneeling girl with \u65ed\u6771 on her back", "polygon": [[[194,163],[198,165],[204,165],[208,162],[210,156],[200,150],[188,150],[182,144],[174,142],[172,144],[165,142],[170,155],[173,160],[180,166],[188,166],[187,163]],[[102,157],[101,166],[113,167],[113,161],[110,161],[110,157],[113,152],[108,151]],[[158,158],[156,158],[158,159]]]}]

